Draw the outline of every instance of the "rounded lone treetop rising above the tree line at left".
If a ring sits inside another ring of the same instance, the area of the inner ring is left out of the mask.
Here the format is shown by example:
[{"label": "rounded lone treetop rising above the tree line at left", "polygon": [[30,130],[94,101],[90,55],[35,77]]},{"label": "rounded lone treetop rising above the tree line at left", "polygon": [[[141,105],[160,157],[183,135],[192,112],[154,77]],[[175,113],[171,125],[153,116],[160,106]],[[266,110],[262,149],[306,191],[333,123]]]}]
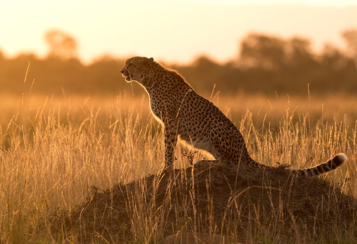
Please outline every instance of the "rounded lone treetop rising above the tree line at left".
[{"label": "rounded lone treetop rising above the tree line at left", "polygon": [[59,59],[73,59],[77,57],[77,42],[70,35],[50,30],[45,34],[45,40],[49,45],[49,56]]}]

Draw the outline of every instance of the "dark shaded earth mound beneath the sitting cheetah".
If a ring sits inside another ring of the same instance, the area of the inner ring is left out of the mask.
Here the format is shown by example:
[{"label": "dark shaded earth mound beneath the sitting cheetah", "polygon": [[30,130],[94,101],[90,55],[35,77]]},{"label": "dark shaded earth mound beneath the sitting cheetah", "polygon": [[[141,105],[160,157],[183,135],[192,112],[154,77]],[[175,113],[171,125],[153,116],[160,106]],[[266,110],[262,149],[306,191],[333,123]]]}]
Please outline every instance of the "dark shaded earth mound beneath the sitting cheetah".
[{"label": "dark shaded earth mound beneath the sitting cheetah", "polygon": [[93,187],[83,204],[55,219],[53,231],[79,242],[158,243],[186,232],[344,243],[356,240],[356,209],[355,199],[330,183],[293,177],[284,166],[214,166]]}]

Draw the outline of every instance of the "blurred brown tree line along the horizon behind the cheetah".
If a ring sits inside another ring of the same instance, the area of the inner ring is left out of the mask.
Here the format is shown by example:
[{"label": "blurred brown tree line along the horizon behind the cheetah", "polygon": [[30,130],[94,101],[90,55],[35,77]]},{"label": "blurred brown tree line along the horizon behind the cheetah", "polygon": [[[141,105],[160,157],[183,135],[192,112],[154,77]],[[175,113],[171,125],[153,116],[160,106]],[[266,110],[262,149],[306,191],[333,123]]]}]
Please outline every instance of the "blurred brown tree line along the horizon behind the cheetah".
[{"label": "blurred brown tree line along the horizon behind the cheetah", "polygon": [[[168,66],[201,93],[210,92],[214,85],[225,94],[298,95],[307,93],[307,85],[315,94],[356,93],[357,30],[346,30],[342,37],[346,50],[325,45],[320,53],[314,53],[306,38],[251,33],[240,41],[234,60],[218,63],[200,56],[186,65]],[[21,93],[33,86],[36,93],[93,96],[128,89],[120,74],[126,58],[104,56],[83,64],[77,57],[76,41],[69,35],[53,30],[45,39],[49,52],[42,59],[35,54],[7,58],[0,52],[1,92]]]}]

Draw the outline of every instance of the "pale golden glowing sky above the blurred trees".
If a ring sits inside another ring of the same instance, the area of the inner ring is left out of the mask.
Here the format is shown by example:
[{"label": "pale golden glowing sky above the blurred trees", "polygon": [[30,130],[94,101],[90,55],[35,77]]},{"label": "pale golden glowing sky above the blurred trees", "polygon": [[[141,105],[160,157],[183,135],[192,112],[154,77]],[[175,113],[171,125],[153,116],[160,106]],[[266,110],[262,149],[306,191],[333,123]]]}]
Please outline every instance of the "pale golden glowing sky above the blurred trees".
[{"label": "pale golden glowing sky above the blurred trees", "polygon": [[44,56],[45,32],[59,29],[77,40],[84,61],[103,54],[228,61],[249,32],[303,36],[316,50],[343,47],[341,31],[357,28],[356,13],[357,0],[11,0],[0,7],[0,50]]}]

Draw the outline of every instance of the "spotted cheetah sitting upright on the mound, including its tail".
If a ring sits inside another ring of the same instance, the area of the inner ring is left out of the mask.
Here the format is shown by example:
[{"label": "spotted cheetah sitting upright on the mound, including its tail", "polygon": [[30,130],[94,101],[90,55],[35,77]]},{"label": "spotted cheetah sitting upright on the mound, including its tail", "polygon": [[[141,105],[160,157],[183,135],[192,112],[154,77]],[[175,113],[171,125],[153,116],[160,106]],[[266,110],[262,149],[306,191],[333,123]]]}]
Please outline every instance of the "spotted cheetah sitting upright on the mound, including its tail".
[{"label": "spotted cheetah sitting upright on the mound, including its tail", "polygon": [[[194,148],[209,152],[215,160],[197,161],[194,166],[233,163],[268,167],[248,154],[242,134],[213,103],[198,95],[175,70],[153,58],[132,57],[120,70],[127,82],[136,81],[149,94],[151,112],[164,126],[165,169],[175,160],[178,138]],[[343,153],[308,169],[292,169],[302,176],[318,176],[339,167]]]}]

